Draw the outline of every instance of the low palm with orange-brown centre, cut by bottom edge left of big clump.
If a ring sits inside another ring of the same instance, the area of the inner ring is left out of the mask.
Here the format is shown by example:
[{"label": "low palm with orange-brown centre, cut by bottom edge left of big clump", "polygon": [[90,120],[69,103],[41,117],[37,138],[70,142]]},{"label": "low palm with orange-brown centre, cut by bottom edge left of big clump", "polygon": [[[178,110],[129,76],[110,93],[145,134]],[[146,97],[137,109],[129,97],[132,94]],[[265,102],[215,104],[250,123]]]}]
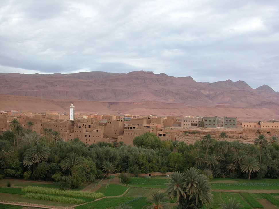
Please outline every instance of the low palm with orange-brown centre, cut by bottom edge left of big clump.
[{"label": "low palm with orange-brown centre, cut by bottom edge left of big clump", "polygon": [[163,192],[153,192],[151,199],[147,200],[148,203],[143,208],[144,209],[171,209],[170,203],[167,201],[168,198]]}]

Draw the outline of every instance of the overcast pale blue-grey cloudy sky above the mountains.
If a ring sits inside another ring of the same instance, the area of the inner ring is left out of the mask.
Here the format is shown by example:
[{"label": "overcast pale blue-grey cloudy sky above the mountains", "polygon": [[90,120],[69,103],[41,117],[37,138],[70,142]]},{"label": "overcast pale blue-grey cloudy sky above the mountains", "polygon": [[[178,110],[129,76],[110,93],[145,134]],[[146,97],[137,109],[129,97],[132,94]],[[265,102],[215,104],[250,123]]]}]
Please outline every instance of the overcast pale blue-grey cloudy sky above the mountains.
[{"label": "overcast pale blue-grey cloudy sky above the mountains", "polygon": [[278,0],[1,0],[0,73],[144,70],[279,91],[278,10]]}]

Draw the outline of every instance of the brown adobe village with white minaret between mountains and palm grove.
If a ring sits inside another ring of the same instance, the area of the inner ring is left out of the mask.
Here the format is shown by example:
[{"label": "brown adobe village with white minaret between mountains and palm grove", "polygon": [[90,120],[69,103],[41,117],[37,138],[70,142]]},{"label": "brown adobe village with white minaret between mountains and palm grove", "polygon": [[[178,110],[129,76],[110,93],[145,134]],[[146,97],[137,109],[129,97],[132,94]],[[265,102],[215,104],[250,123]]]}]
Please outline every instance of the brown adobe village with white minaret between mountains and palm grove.
[{"label": "brown adobe village with white minaret between mountains and palm grove", "polygon": [[[241,122],[237,117],[181,117],[181,116],[141,116],[125,114],[99,115],[80,114],[75,106],[69,106],[70,114],[47,112],[46,114],[1,112],[0,131],[9,129],[9,122],[18,118],[22,127],[38,134],[57,131],[64,141],[79,138],[85,144],[111,142],[133,144],[136,136],[146,132],[154,133],[161,140],[179,140],[187,144],[200,140],[205,133],[213,136],[226,131],[228,140],[252,143],[260,132],[267,136],[279,136],[277,120]],[[29,124],[29,125],[28,125]],[[189,134],[185,134],[189,132]],[[191,134],[191,133],[194,134]]]}]

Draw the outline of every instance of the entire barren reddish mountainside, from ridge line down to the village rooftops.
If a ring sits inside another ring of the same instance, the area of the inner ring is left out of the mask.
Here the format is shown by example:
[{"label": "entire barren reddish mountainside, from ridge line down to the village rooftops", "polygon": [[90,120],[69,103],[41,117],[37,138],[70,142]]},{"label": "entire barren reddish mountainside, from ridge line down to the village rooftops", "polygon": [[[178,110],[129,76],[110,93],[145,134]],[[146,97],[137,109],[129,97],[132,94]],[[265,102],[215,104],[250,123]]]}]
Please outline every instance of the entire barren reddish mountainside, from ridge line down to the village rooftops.
[{"label": "entire barren reddish mountainside, from ridge line down to the village rooftops", "polygon": [[279,92],[267,85],[252,89],[244,81],[201,83],[191,77],[137,71],[127,74],[0,73],[0,110],[110,114],[279,116]]}]

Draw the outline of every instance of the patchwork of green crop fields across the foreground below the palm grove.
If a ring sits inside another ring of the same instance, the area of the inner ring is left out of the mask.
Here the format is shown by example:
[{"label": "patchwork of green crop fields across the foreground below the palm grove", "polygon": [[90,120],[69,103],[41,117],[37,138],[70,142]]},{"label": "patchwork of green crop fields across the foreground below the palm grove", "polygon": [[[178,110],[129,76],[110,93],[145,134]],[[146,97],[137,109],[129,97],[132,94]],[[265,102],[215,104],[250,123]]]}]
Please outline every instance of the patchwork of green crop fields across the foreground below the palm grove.
[{"label": "patchwork of green crop fields across the foreground below the palm grove", "polygon": [[[2,180],[2,183],[5,181]],[[233,182],[233,183],[232,183]],[[93,201],[94,198],[89,198],[84,195],[89,195],[88,193],[78,192],[74,190],[70,191],[61,191],[57,189],[51,189],[49,185],[55,185],[50,183],[42,182],[32,182],[31,185],[43,185],[43,188],[38,187],[27,187],[27,182],[13,180],[13,185],[23,187],[23,188],[14,188],[14,187],[0,187],[0,200],[9,200],[9,201],[18,201],[18,202],[29,202],[35,204],[45,204],[53,206],[72,206],[75,209],[115,209],[122,204],[127,204],[132,206],[133,209],[141,209],[146,205],[146,199],[151,196],[151,194],[157,190],[164,191],[162,189],[166,188],[165,183],[167,183],[167,178],[165,177],[132,177],[132,180],[127,184],[131,188],[124,186],[122,184],[104,184],[102,185],[97,192],[103,193],[106,198]],[[253,208],[265,208],[264,202],[259,202],[258,200],[266,199],[271,204],[279,208],[279,180],[278,179],[224,179],[224,178],[215,178],[211,181],[212,189],[214,191],[212,194],[213,202],[204,206],[203,209],[216,209],[219,207],[220,202],[223,200],[226,201],[228,198],[237,199],[243,207],[241,209],[253,209]],[[25,186],[24,186],[25,185]],[[47,185],[47,186],[46,186]],[[57,187],[57,185],[55,185]],[[107,188],[106,188],[107,187]],[[54,187],[55,188],[55,187]],[[125,193],[125,191],[128,191]],[[272,190],[274,193],[249,193],[249,192],[219,192],[218,190]],[[31,193],[36,193],[30,195]],[[41,193],[41,194],[39,194]],[[65,194],[64,194],[65,193]],[[125,194],[124,194],[125,193]],[[28,199],[27,196],[29,195]],[[24,196],[25,195],[25,196]],[[40,197],[39,197],[40,196]],[[64,197],[65,200],[62,200],[61,197]],[[115,197],[113,196],[121,196]],[[111,198],[110,198],[111,197]],[[75,198],[71,202],[71,198]],[[59,202],[65,203],[59,203]],[[76,201],[76,202],[75,202]],[[93,201],[93,202],[91,202]],[[80,204],[82,202],[88,202],[80,206],[74,206],[75,204]],[[176,198],[174,200],[170,199],[170,202],[175,206]],[[69,204],[70,203],[70,204]],[[9,206],[9,205],[0,205],[0,209],[21,209],[22,207]]]}]

